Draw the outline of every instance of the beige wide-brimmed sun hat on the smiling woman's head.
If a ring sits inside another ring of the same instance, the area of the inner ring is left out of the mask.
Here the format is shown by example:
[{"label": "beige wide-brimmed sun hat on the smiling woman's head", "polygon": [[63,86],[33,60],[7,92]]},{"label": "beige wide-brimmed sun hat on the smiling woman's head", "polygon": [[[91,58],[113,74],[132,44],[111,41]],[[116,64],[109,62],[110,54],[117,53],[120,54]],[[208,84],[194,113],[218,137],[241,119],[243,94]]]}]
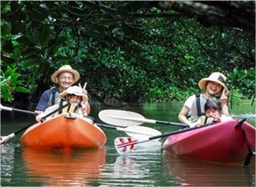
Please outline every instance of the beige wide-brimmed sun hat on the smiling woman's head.
[{"label": "beige wide-brimmed sun hat on the smiling woman's head", "polygon": [[[223,75],[222,73],[219,73],[219,72],[214,72],[208,78],[203,78],[202,80],[200,80],[198,83],[198,86],[201,89],[206,89],[207,83],[209,81],[212,81],[212,82],[220,84],[224,89],[227,89],[227,87],[225,86],[226,80],[227,80],[227,78],[225,77],[225,75]],[[227,89],[227,90],[229,90],[229,89]]]}]

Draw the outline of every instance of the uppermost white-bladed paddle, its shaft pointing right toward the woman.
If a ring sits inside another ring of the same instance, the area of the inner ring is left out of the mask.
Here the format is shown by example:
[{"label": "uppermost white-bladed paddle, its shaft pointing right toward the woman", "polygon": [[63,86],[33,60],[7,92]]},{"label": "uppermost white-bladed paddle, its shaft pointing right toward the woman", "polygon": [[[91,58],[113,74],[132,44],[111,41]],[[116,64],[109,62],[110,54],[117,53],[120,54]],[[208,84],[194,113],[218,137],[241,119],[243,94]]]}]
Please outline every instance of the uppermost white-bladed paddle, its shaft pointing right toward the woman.
[{"label": "uppermost white-bladed paddle, its shaft pointing right toward the woman", "polygon": [[107,124],[119,125],[121,127],[140,125],[145,122],[149,124],[166,124],[166,125],[175,125],[179,127],[189,127],[189,125],[187,124],[179,124],[179,123],[169,122],[169,121],[156,121],[154,119],[146,119],[144,116],[136,112],[123,111],[123,110],[111,110],[111,109],[103,110],[98,113],[98,117],[100,117],[100,120],[102,120],[103,122],[106,122]]}]

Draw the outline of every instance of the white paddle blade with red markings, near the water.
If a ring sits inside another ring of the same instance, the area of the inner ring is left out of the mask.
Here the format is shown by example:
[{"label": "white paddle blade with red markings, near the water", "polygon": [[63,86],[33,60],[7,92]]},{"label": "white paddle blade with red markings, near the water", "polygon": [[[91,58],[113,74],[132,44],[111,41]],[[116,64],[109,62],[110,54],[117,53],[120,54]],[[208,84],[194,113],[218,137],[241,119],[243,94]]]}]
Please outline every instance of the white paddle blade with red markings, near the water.
[{"label": "white paddle blade with red markings, near the water", "polygon": [[116,152],[120,155],[126,154],[135,148],[136,142],[138,140],[132,137],[117,137],[114,140]]}]

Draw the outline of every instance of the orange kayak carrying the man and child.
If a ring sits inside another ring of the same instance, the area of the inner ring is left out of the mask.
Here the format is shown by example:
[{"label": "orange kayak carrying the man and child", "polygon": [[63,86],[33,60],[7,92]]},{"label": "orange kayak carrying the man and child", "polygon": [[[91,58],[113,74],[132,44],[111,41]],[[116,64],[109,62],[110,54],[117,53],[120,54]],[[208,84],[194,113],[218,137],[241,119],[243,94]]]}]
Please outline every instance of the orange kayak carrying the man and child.
[{"label": "orange kayak carrying the man and child", "polygon": [[32,125],[21,136],[23,147],[47,149],[100,148],[107,137],[89,119],[64,113]]}]

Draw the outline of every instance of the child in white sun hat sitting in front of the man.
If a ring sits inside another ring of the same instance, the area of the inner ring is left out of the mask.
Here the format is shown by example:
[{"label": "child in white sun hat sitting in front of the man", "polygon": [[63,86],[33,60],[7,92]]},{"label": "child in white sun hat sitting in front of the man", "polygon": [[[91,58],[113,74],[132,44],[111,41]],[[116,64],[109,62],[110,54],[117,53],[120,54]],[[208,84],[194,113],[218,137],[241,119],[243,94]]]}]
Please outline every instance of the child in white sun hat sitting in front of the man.
[{"label": "child in white sun hat sitting in front of the man", "polygon": [[[62,99],[62,101],[64,102],[63,104],[71,104],[69,107],[62,109],[62,112],[75,112],[80,116],[88,115],[88,96],[83,93],[82,88],[80,88],[79,86],[70,86],[62,93],[60,93],[59,98]],[[36,116],[36,121],[40,122],[43,116],[46,116],[47,114],[58,109],[59,107],[60,103],[47,107],[44,112]]]}]

